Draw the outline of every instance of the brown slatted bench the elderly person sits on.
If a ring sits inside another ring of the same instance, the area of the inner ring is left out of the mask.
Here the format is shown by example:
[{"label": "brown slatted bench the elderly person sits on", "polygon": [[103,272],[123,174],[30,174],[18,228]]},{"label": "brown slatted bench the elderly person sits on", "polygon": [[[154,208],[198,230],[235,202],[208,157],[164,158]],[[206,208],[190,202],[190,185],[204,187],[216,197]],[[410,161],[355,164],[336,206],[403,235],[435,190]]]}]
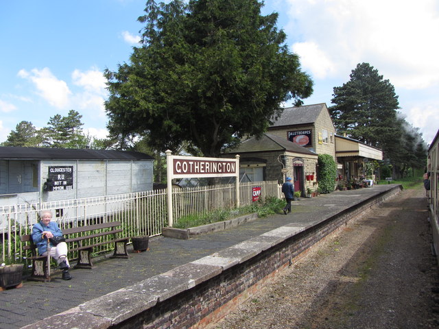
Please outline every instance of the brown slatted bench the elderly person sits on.
[{"label": "brown slatted bench the elderly person sits on", "polygon": [[[78,228],[65,228],[62,230],[66,243],[69,245],[69,252],[78,251],[78,263],[75,268],[92,269],[93,248],[107,243],[114,243],[114,252],[110,258],[128,258],[126,245],[129,238],[119,238],[118,233],[122,232],[122,223],[112,221],[108,223],[94,224],[88,226],[79,226]],[[109,230],[108,230],[109,229]],[[102,232],[95,232],[104,230]],[[93,238],[112,236],[109,240],[93,243]],[[50,281],[50,261],[47,262],[47,256],[39,256],[38,249],[32,241],[32,234],[25,234],[20,237],[21,242],[27,243],[23,247],[25,250],[31,250],[32,257],[32,275],[28,280]]]}]

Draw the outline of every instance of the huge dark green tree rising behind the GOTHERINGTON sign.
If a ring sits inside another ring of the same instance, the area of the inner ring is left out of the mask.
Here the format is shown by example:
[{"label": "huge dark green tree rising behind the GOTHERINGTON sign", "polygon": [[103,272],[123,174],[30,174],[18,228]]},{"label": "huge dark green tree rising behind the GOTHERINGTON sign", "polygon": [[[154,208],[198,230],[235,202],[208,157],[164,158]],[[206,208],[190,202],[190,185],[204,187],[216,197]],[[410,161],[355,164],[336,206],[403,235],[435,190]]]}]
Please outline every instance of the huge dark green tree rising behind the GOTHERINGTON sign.
[{"label": "huge dark green tree rising behind the GOTHERINGTON sign", "polygon": [[148,136],[154,149],[217,156],[246,134],[260,136],[281,103],[312,93],[310,77],[257,0],[148,0],[142,46],[106,71],[108,128]]}]

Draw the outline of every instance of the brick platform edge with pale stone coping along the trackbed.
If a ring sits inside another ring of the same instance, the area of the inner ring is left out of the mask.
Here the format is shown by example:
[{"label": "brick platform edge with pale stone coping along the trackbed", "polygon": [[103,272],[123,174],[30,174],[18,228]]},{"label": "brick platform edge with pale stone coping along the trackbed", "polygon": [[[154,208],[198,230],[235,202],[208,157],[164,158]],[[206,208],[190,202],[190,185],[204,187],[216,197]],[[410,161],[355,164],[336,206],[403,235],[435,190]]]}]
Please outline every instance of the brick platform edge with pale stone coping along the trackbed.
[{"label": "brick platform edge with pale stone coping along the trackbed", "polygon": [[328,234],[401,189],[395,186],[309,226],[282,226],[23,328],[205,328]]}]

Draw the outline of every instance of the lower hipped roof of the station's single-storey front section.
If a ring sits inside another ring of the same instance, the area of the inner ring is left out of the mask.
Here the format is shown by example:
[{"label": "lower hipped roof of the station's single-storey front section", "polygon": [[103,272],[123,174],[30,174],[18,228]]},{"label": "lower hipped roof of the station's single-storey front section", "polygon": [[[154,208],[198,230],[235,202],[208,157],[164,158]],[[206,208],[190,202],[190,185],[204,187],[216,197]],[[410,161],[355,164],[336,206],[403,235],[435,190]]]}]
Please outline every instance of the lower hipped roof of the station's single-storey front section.
[{"label": "lower hipped roof of the station's single-storey front section", "polygon": [[309,156],[317,156],[317,154],[306,147],[297,145],[296,143],[288,141],[286,138],[281,138],[273,134],[264,133],[261,139],[257,140],[255,137],[243,141],[236,149],[229,150],[228,154],[242,154],[248,152],[263,152],[263,151],[289,151],[298,154],[305,154]]}]

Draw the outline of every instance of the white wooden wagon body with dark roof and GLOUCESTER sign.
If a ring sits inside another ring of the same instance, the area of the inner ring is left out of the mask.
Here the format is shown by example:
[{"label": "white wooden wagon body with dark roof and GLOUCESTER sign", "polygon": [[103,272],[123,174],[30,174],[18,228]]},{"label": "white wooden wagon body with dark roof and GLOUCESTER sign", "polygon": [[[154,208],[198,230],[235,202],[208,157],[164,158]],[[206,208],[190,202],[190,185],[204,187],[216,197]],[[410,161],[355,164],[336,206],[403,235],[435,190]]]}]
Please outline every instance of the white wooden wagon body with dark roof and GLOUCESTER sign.
[{"label": "white wooden wagon body with dark roof and GLOUCESTER sign", "polygon": [[150,191],[153,161],[135,151],[0,147],[0,206]]}]

